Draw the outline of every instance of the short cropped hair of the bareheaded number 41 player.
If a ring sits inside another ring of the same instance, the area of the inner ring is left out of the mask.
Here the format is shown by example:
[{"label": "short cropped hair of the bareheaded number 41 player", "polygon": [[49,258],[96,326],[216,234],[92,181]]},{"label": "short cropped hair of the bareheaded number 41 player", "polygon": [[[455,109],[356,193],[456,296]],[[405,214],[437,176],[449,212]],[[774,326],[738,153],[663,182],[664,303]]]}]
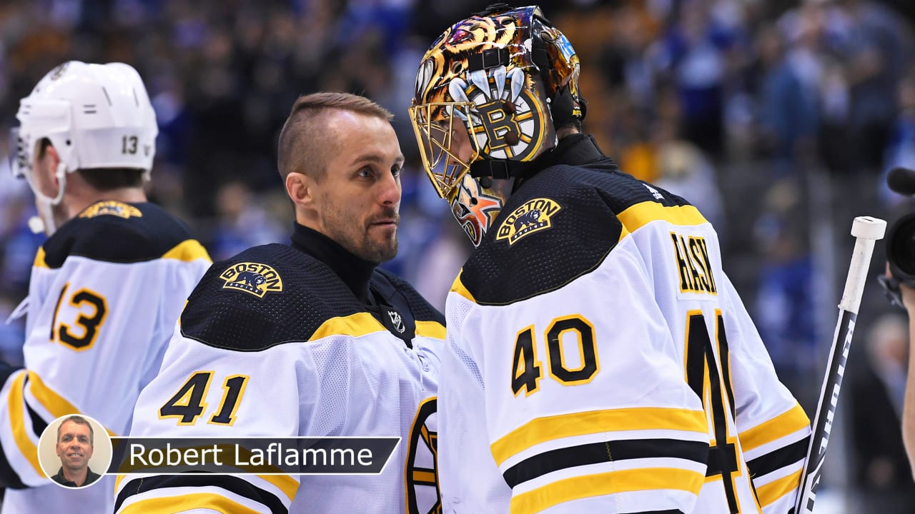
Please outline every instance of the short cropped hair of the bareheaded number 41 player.
[{"label": "short cropped hair of the bareheaded number 41 player", "polygon": [[393,114],[364,96],[316,92],[298,97],[280,132],[277,165],[280,177],[302,173],[317,180],[327,174],[327,129],[319,121],[331,110],[357,112],[390,122]]}]

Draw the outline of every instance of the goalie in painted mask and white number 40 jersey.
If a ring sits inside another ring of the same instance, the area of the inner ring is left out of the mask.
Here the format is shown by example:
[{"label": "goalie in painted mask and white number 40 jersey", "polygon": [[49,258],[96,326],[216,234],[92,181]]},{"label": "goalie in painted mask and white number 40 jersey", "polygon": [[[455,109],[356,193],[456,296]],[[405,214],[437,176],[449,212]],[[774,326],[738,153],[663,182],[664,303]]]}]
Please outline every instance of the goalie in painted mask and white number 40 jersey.
[{"label": "goalie in painted mask and white number 40 jersey", "polygon": [[810,434],[684,198],[580,133],[579,61],[539,7],[436,39],[411,120],[478,246],[447,297],[446,512],[785,514]]}]

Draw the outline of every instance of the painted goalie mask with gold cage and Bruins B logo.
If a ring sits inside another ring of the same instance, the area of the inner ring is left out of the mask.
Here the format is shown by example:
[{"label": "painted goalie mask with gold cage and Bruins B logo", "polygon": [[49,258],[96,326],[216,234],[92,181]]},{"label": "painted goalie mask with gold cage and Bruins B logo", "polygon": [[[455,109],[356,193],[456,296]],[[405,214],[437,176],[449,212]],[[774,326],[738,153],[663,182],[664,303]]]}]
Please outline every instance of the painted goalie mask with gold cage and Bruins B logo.
[{"label": "painted goalie mask with gold cage and Bruins B logo", "polygon": [[519,170],[584,119],[578,57],[538,6],[492,5],[425,52],[410,120],[425,172],[474,245]]}]

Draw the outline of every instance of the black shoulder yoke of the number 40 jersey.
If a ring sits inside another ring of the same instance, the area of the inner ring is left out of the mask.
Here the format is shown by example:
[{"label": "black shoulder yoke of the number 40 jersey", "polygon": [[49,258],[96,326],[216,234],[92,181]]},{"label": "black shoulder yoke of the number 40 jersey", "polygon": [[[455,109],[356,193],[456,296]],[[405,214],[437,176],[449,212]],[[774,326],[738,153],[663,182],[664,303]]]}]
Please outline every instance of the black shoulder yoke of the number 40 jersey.
[{"label": "black shoulder yoke of the number 40 jersey", "polygon": [[619,213],[688,205],[608,163],[552,166],[523,183],[461,271],[468,294],[507,305],[554,291],[603,262],[626,230]]}]

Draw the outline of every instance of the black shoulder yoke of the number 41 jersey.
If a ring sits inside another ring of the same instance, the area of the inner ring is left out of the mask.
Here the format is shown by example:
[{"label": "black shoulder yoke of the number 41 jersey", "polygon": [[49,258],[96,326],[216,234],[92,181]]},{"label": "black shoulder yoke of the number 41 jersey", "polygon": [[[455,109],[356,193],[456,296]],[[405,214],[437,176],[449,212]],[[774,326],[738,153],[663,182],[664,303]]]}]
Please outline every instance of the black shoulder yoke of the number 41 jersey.
[{"label": "black shoulder yoke of the number 41 jersey", "polygon": [[[399,305],[408,305],[417,320],[433,316],[413,288],[400,287],[393,274],[376,270],[371,283],[379,281],[394,284],[392,291],[406,301]],[[383,329],[324,262],[275,243],[210,266],[181,314],[185,337],[237,351]]]}]

